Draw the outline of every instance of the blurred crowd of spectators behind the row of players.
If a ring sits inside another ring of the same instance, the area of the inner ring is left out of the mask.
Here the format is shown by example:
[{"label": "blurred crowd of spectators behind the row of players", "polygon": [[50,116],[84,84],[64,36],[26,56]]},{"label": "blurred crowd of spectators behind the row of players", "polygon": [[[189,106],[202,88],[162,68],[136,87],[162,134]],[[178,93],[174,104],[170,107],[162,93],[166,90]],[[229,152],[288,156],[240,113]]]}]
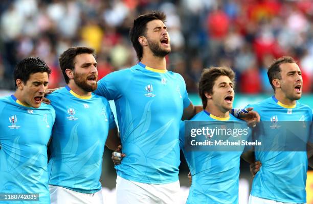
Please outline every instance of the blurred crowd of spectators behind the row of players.
[{"label": "blurred crowd of spectators behind the row of players", "polygon": [[99,78],[136,64],[128,31],[152,10],[167,14],[168,70],[183,75],[189,92],[210,66],[232,67],[241,93],[272,92],[267,67],[283,55],[298,61],[303,91],[313,92],[311,0],[2,0],[0,88],[14,89],[13,68],[28,56],[48,63],[51,88],[63,86],[58,56],[70,46],[96,49]]}]

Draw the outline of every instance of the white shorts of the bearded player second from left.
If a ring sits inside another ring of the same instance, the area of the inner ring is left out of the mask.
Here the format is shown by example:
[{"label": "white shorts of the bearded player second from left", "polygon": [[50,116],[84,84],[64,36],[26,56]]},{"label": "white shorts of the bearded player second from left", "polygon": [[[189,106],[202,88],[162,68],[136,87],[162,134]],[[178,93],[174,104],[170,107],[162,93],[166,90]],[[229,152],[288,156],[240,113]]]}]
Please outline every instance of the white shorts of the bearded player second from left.
[{"label": "white shorts of the bearded player second from left", "polygon": [[80,193],[60,186],[49,185],[51,204],[103,204],[102,191]]}]

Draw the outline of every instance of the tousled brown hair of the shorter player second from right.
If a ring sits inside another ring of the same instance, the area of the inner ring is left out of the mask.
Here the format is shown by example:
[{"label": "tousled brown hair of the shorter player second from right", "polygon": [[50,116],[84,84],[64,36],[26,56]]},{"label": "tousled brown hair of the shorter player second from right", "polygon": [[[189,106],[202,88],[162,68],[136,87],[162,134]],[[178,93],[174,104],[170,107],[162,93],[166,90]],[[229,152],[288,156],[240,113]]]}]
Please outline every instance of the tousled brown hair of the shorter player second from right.
[{"label": "tousled brown hair of the shorter player second from right", "polygon": [[198,92],[204,109],[207,107],[207,97],[205,93],[213,93],[214,83],[220,76],[229,77],[232,83],[235,84],[235,72],[229,67],[210,67],[202,71]]}]

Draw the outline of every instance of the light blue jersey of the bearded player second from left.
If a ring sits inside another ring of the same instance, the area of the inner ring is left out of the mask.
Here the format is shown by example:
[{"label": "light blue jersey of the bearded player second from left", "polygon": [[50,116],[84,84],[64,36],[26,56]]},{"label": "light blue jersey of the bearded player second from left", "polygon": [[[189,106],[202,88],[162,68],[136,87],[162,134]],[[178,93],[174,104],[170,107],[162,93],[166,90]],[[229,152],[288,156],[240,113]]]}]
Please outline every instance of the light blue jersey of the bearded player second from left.
[{"label": "light blue jersey of the bearded player second from left", "polygon": [[49,184],[81,193],[101,190],[102,155],[108,130],[116,127],[106,98],[80,96],[70,87],[48,96],[56,112]]}]

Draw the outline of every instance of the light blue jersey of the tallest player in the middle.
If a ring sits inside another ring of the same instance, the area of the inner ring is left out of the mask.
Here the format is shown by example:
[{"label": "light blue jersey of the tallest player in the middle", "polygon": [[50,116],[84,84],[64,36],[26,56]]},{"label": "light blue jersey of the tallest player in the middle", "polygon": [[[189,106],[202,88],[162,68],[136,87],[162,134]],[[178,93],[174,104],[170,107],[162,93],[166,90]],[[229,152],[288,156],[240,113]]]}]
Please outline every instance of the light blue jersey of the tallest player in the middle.
[{"label": "light blue jersey of the tallest player in the middle", "polygon": [[183,77],[139,63],[108,74],[95,93],[115,100],[126,154],[117,174],[148,184],[177,181],[180,121],[190,105]]}]

